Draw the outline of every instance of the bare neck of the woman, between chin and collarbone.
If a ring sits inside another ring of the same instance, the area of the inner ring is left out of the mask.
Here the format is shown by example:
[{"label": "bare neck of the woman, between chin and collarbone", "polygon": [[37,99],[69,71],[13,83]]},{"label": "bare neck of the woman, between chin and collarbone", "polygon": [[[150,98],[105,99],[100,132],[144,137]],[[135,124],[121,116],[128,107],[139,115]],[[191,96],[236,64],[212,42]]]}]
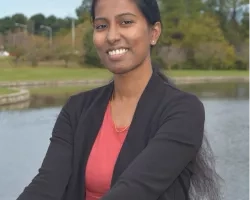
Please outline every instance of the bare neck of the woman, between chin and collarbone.
[{"label": "bare neck of the woman, between chin and collarbone", "polygon": [[115,75],[113,98],[119,101],[139,100],[152,73],[152,66],[147,65],[124,75]]}]

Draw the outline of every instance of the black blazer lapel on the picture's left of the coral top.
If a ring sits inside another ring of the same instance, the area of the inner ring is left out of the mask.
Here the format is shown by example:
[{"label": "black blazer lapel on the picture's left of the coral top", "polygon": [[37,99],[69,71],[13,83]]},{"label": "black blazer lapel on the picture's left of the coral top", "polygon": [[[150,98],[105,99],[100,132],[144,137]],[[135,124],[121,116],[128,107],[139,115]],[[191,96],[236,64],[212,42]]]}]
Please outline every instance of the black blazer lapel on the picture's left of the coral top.
[{"label": "black blazer lapel on the picture's left of the coral top", "polygon": [[[91,107],[87,108],[86,113],[80,117],[78,128],[75,133],[74,145],[74,173],[71,180],[73,180],[72,191],[73,196],[79,199],[84,199],[85,196],[85,168],[95,138],[102,125],[103,117],[113,91],[113,82],[105,86],[100,93],[93,95],[93,103]],[[74,194],[73,194],[74,193]]]}]

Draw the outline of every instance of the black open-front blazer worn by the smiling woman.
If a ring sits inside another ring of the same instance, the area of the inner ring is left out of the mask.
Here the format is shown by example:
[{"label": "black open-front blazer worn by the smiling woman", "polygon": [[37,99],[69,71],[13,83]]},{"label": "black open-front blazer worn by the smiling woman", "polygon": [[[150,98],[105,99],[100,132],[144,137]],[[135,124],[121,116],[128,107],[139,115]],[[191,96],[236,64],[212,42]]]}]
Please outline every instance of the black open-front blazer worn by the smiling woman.
[{"label": "black open-front blazer worn by the smiling woman", "polygon": [[[72,96],[53,128],[39,173],[17,200],[84,200],[85,167],[114,83]],[[187,200],[205,113],[194,95],[154,72],[101,200]]]}]

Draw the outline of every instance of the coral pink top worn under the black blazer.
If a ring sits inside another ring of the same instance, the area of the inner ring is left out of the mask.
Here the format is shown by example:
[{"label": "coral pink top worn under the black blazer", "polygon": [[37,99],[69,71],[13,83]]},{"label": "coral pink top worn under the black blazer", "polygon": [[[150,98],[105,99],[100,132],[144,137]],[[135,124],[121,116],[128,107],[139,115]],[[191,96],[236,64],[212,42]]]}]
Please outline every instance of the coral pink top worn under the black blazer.
[{"label": "coral pink top worn under the black blazer", "polygon": [[86,200],[100,199],[110,189],[114,165],[127,135],[127,129],[120,130],[115,129],[109,103],[86,166]]}]

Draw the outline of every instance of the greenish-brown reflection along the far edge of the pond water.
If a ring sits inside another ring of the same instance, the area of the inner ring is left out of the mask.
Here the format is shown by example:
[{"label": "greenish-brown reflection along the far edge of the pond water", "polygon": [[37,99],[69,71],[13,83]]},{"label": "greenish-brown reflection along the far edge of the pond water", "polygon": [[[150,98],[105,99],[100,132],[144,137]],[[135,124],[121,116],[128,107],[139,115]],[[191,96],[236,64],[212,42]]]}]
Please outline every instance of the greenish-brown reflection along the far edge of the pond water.
[{"label": "greenish-brown reflection along the far edge of the pond water", "polygon": [[[230,98],[230,99],[250,99],[250,83],[200,83],[177,85],[180,89],[196,94],[201,98]],[[42,88],[47,90],[48,88]],[[61,106],[70,95],[89,90],[91,87],[68,86],[49,88],[50,92],[31,92],[31,100],[20,104],[0,106],[0,110],[20,110],[28,108]],[[51,93],[51,91],[57,91]],[[31,90],[32,91],[32,90]]]}]

